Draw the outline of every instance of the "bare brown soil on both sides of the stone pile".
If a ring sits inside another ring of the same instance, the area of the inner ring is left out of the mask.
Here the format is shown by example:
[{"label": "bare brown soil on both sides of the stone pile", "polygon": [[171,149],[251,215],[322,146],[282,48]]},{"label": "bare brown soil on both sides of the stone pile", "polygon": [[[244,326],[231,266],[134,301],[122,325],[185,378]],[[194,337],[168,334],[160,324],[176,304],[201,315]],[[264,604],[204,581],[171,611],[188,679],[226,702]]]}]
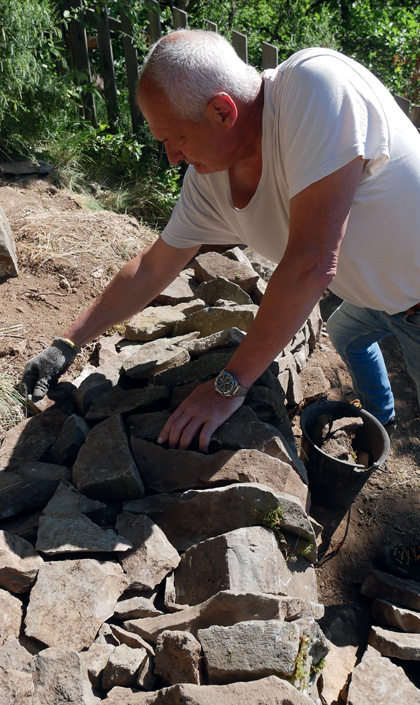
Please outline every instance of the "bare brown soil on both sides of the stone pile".
[{"label": "bare brown soil on both sides of the stone pile", "polygon": [[[3,178],[0,205],[15,237],[20,267],[19,277],[0,281],[0,375],[18,380],[25,362],[60,335],[121,265],[153,242],[157,233],[132,217],[88,210],[80,198],[57,189],[49,177]],[[334,296],[325,295],[324,320],[337,304]],[[88,347],[79,368],[91,350]],[[317,567],[320,599],[332,612],[343,606],[354,609],[362,640],[370,601],[360,595],[360,584],[379,549],[420,540],[419,407],[398,344],[388,339],[383,350],[400,420],[387,467],[373,474],[344,515],[312,508],[324,526]],[[324,371],[330,385],[328,399],[354,399],[350,378],[325,331],[308,364]],[[73,368],[73,376],[77,372]],[[301,410],[291,410],[298,445]]]}]

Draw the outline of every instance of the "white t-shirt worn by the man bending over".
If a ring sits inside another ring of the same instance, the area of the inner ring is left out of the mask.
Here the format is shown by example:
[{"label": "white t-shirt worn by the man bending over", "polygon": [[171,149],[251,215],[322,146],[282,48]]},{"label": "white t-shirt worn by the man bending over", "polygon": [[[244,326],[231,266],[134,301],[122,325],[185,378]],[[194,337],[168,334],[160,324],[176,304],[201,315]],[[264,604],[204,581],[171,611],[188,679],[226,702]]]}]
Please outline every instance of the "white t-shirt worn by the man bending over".
[{"label": "white t-shirt worn by the man bending over", "polygon": [[[174,247],[246,243],[278,263],[290,199],[357,156],[357,187],[330,289],[388,313],[420,301],[420,135],[367,69],[305,49],[263,74],[262,175],[245,208],[226,171],[190,167],[162,238]],[[316,213],[314,213],[314,218]]]}]

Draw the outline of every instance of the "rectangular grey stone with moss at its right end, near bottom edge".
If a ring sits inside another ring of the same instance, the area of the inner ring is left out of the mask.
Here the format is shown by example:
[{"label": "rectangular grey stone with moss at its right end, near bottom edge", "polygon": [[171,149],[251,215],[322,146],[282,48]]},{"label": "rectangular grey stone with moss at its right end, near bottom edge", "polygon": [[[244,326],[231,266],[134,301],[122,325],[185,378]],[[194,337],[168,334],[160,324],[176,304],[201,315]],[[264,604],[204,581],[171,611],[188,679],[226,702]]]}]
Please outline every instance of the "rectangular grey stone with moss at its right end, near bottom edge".
[{"label": "rectangular grey stone with moss at its right end, near bottom edge", "polygon": [[299,652],[296,622],[253,620],[199,629],[209,684],[292,676]]}]

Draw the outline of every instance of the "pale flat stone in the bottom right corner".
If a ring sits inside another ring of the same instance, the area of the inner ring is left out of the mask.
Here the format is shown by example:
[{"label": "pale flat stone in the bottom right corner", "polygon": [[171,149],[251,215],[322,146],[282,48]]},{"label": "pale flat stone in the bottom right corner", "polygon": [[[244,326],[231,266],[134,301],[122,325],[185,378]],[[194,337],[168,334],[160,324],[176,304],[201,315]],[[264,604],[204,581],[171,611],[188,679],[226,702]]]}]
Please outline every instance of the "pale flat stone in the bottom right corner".
[{"label": "pale flat stone in the bottom right corner", "polygon": [[418,705],[420,691],[402,668],[368,647],[352,673],[347,705],[392,703],[396,697],[404,705]]}]

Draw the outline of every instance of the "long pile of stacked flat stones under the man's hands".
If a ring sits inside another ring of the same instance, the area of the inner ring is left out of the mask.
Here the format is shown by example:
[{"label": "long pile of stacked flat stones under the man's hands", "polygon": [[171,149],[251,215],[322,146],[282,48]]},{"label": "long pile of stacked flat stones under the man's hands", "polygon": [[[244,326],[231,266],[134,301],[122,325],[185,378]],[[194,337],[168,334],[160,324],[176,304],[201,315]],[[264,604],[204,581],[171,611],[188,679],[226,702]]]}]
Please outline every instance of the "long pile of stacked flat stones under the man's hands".
[{"label": "long pile of stacked flat stones under the man's hands", "polygon": [[313,702],[328,652],[319,527],[284,401],[296,403],[319,313],[209,455],[156,442],[171,410],[228,363],[260,274],[269,264],[252,252],[199,255],[125,338],[102,339],[99,366],[6,436],[4,705]]}]

